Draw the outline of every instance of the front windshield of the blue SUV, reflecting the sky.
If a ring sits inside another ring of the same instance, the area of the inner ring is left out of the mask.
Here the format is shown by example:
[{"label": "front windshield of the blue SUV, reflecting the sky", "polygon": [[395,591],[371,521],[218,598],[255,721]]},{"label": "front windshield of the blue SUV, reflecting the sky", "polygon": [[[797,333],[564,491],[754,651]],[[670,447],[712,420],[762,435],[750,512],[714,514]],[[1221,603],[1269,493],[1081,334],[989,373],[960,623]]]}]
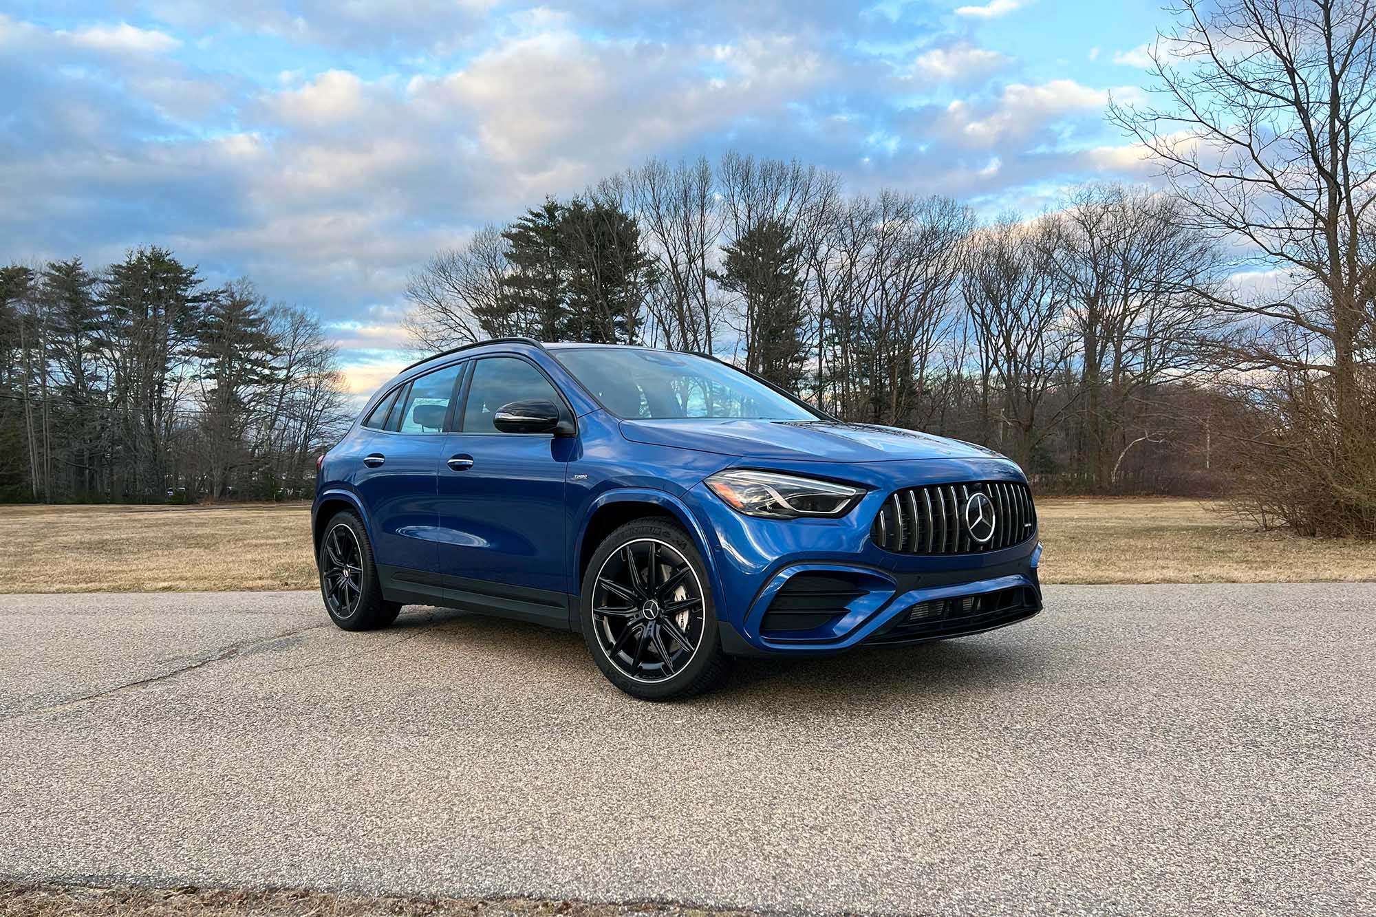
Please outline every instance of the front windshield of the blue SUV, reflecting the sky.
[{"label": "front windshield of the blue SUV, reflecting the sky", "polygon": [[570,347],[555,357],[625,420],[817,420],[764,383],[706,357],[630,347]]}]

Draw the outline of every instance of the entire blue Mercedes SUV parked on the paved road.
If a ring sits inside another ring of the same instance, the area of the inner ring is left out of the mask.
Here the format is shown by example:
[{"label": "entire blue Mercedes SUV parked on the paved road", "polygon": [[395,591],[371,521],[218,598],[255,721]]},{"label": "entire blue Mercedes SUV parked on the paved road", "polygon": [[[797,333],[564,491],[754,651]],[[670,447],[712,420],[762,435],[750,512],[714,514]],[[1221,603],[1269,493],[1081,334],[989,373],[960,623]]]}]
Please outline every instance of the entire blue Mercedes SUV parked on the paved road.
[{"label": "entire blue Mercedes SUV parked on the paved road", "polygon": [[1013,461],[643,347],[499,339],[406,368],[322,457],[312,531],[347,631],[413,603],[578,631],[651,699],[709,688],[732,657],[1042,609]]}]

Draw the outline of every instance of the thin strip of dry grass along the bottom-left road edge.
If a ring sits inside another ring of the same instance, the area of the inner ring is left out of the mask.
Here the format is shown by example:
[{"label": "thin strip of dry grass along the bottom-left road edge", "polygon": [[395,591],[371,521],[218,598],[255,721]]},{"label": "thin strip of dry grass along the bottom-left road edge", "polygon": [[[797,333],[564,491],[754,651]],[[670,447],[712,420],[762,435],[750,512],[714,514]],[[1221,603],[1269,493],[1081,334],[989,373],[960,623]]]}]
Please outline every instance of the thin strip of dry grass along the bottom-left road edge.
[{"label": "thin strip of dry grass along the bottom-left road edge", "polygon": [[592,905],[530,898],[409,898],[299,891],[286,888],[88,888],[84,885],[0,881],[3,917],[694,917],[744,914],[677,905]]}]

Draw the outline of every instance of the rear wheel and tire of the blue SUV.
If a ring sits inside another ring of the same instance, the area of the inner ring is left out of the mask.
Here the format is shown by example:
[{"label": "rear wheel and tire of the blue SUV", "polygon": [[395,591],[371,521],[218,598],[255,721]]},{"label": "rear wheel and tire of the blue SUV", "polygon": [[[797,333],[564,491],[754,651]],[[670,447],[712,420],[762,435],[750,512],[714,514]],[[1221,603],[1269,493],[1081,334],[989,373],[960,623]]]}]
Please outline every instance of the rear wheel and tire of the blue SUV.
[{"label": "rear wheel and tire of the blue SUV", "polygon": [[[343,565],[338,562],[344,562]],[[347,570],[341,581],[340,569]],[[373,562],[373,545],[362,519],[344,509],[330,516],[315,555],[321,576],[321,598],[330,621],[345,631],[376,631],[400,614],[398,602],[383,599],[383,585]],[[344,599],[348,599],[347,602]]]}]

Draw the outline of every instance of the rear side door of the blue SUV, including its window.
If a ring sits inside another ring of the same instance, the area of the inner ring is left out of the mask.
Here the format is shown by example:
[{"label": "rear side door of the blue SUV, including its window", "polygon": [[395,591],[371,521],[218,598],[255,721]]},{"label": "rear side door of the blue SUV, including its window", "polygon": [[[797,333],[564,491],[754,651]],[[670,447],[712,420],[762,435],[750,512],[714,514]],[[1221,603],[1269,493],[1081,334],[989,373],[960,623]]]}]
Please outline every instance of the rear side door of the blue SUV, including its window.
[{"label": "rear side door of the blue SUV, including its window", "polygon": [[435,498],[462,369],[462,363],[454,363],[400,386],[380,402],[380,409],[391,403],[385,423],[369,430],[356,447],[355,487],[372,519],[383,588],[388,598],[407,592],[396,600],[443,598]]}]

